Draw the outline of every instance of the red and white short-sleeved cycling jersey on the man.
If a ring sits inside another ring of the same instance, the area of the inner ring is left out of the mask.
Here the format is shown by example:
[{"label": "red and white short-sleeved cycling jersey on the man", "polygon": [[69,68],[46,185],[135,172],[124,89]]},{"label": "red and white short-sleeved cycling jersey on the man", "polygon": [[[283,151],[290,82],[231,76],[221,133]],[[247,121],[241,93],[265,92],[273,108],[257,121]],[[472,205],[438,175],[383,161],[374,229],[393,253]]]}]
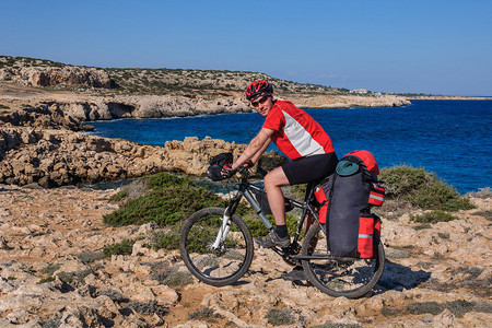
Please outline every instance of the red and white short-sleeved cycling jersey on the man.
[{"label": "red and white short-sleeved cycling jersey on the man", "polygon": [[291,102],[276,101],[263,128],[274,130],[271,140],[291,160],[335,152],[321,126]]}]

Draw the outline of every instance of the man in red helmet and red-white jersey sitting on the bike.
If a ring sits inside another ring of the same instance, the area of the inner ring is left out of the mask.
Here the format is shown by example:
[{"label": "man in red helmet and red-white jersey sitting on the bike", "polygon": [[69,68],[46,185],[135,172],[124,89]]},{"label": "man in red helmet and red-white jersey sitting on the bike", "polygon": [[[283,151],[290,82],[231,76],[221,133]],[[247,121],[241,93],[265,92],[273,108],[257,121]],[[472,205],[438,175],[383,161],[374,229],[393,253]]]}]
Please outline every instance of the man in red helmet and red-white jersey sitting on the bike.
[{"label": "man in red helmet and red-white jersey sitting on the bike", "polygon": [[338,159],[321,126],[291,102],[276,99],[269,82],[254,81],[246,89],[246,99],[265,117],[265,122],[243,154],[223,167],[222,175],[231,176],[241,166],[256,163],[272,141],[291,160],[265,176],[263,185],[276,229],[267,236],[256,238],[261,247],[285,248],[291,238],[281,187],[319,180],[335,172]]}]

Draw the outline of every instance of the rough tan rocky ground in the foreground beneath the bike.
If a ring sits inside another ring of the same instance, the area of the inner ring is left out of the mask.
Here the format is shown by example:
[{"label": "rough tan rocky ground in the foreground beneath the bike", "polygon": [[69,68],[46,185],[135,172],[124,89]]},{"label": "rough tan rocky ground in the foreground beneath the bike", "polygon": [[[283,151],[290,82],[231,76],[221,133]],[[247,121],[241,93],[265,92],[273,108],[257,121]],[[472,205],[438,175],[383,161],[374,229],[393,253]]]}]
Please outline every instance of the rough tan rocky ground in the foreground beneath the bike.
[{"label": "rough tan rocky ground in the foreground beneath the bike", "polygon": [[[383,215],[385,273],[373,294],[348,300],[284,281],[291,268],[262,248],[238,283],[198,282],[177,251],[144,247],[151,224],[103,224],[118,207],[108,202],[116,191],[0,185],[1,327],[487,327],[492,320],[490,192],[473,198],[478,209],[459,212],[460,220],[429,229],[415,230],[408,214]],[[139,239],[131,255],[103,257],[105,245],[126,238]]]}]

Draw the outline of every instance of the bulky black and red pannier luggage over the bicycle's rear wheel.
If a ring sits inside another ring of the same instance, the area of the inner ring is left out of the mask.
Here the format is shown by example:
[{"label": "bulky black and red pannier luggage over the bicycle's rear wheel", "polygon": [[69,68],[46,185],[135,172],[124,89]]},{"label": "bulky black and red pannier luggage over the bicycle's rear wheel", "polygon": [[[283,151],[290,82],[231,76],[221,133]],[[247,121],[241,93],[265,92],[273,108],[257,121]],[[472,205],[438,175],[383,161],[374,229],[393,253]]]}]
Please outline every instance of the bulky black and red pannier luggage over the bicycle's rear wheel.
[{"label": "bulky black and red pannier luggage over the bicycle's rear wheel", "polygon": [[378,174],[374,155],[356,150],[344,155],[336,172],[316,187],[319,223],[328,222],[325,229],[331,255],[373,257],[373,235],[380,234],[380,221],[371,214],[371,206],[382,206],[384,201]]}]

